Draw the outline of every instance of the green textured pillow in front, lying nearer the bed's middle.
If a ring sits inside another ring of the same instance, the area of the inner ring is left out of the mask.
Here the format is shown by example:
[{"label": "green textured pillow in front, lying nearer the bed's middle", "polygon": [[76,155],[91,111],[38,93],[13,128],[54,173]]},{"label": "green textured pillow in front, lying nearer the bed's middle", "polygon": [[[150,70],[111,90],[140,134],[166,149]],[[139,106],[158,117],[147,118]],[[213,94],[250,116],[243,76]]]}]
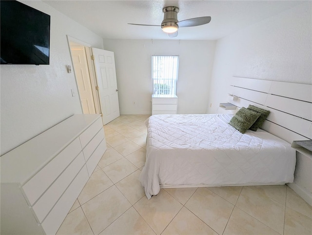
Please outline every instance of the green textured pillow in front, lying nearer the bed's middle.
[{"label": "green textured pillow in front, lying nearer the bed's middle", "polygon": [[237,111],[234,117],[232,117],[229,124],[240,133],[244,134],[248,128],[254,124],[258,117],[260,117],[259,113],[242,107]]}]

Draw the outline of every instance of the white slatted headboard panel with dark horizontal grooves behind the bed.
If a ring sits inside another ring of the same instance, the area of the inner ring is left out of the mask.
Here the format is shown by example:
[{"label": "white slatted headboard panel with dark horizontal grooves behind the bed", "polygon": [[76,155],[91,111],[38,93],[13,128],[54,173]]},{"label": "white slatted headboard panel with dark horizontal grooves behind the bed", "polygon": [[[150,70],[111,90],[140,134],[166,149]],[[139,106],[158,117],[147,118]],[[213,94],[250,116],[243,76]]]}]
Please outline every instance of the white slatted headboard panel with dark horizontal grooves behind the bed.
[{"label": "white slatted headboard panel with dark horizontal grooves behind the bed", "polygon": [[238,98],[230,103],[271,111],[261,129],[289,143],[312,139],[312,85],[238,77],[231,80],[231,95]]}]

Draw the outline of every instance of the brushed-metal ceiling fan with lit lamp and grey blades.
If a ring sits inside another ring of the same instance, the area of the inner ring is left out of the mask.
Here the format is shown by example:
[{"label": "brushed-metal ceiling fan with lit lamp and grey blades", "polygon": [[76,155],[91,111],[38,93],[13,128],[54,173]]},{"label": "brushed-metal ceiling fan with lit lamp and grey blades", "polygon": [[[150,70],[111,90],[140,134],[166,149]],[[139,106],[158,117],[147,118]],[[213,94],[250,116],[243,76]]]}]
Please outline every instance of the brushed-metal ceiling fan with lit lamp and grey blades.
[{"label": "brushed-metal ceiling fan with lit lamp and grey blades", "polygon": [[179,12],[179,8],[176,6],[166,6],[162,9],[164,13],[164,20],[162,20],[161,25],[154,24],[133,24],[133,25],[143,25],[143,26],[161,26],[162,31],[168,33],[169,38],[175,38],[177,36],[177,30],[179,27],[192,27],[198,26],[202,24],[207,24],[210,22],[211,17],[197,17],[187,20],[177,20],[177,13]]}]

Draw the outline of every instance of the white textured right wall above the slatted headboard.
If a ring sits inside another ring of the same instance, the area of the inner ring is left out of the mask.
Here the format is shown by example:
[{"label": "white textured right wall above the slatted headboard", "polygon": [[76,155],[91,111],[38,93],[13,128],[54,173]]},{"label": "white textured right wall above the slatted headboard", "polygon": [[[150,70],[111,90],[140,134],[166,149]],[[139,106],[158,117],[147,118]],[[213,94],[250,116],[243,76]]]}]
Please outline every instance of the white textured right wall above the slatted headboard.
[{"label": "white textured right wall above the slatted headboard", "polygon": [[311,1],[216,43],[208,113],[219,113],[233,76],[312,84]]}]

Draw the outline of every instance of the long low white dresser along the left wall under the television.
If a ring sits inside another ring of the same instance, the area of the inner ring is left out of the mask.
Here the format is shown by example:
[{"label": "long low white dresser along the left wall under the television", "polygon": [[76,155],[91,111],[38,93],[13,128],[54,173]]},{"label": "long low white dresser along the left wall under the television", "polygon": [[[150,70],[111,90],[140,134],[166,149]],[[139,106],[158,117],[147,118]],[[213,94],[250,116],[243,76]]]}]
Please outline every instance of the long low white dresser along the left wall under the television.
[{"label": "long low white dresser along the left wall under the television", "polygon": [[100,116],[78,114],[3,155],[1,234],[56,234],[105,150]]}]

